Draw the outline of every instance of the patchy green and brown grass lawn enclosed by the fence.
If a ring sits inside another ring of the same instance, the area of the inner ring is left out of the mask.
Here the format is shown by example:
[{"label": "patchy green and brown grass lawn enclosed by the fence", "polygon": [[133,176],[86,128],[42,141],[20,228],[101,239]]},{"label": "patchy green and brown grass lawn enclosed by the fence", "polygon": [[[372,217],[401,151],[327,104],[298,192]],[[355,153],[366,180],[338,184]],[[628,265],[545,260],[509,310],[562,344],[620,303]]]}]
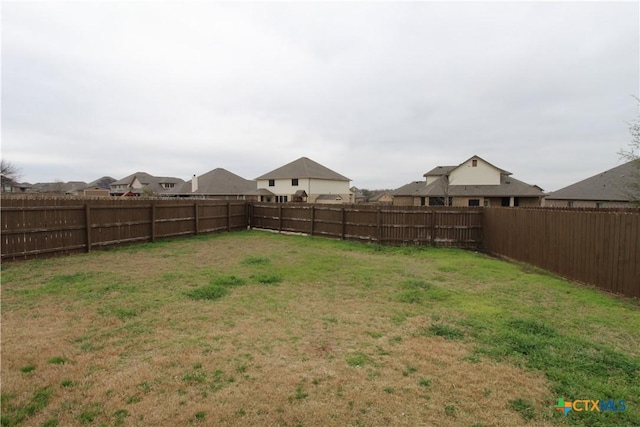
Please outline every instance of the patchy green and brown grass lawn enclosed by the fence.
[{"label": "patchy green and brown grass lawn enclosed by the fence", "polygon": [[1,344],[2,426],[640,425],[637,300],[461,250],[247,231],[4,263]]}]

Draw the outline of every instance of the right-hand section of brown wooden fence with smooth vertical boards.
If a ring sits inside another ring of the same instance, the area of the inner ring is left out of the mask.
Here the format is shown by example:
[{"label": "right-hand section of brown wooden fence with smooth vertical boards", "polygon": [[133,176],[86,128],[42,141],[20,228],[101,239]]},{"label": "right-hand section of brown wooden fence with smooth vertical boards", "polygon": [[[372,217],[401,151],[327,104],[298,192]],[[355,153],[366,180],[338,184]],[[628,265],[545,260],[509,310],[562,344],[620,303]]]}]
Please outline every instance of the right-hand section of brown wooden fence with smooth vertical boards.
[{"label": "right-hand section of brown wooden fence with smooth vertical boards", "polygon": [[640,297],[640,210],[484,210],[485,250]]}]

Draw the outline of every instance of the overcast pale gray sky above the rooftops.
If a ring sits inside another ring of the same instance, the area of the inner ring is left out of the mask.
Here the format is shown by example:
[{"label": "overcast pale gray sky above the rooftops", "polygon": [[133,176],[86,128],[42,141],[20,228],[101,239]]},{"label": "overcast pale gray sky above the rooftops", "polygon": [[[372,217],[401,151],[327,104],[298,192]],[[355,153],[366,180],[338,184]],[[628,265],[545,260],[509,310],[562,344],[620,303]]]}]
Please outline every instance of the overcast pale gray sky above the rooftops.
[{"label": "overcast pale gray sky above the rooftops", "polygon": [[639,3],[3,1],[2,158],[30,183],[397,188],[474,154],[553,191],[621,164]]}]

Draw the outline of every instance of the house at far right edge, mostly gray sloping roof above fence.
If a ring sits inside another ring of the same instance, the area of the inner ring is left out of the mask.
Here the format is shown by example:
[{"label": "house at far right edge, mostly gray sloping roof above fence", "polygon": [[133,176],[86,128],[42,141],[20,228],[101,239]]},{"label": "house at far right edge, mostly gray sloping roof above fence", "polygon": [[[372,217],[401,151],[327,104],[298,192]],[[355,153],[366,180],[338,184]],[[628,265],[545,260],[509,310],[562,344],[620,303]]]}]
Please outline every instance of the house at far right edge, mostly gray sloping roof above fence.
[{"label": "house at far right edge, mostly gray sloping roof above fence", "polygon": [[632,207],[633,186],[640,186],[640,165],[631,161],[549,193],[546,206],[576,208]]}]

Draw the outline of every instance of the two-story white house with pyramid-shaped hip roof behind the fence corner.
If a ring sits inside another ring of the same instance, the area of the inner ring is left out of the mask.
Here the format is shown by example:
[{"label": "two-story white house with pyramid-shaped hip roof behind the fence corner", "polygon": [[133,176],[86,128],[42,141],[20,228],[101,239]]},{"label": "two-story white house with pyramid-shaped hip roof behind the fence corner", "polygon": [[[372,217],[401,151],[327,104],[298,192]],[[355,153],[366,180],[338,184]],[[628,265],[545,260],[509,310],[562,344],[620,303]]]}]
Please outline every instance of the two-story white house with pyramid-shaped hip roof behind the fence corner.
[{"label": "two-story white house with pyramid-shaped hip roof behind the fence corner", "polygon": [[351,180],[307,157],[259,176],[256,181],[258,191],[272,193],[259,195],[261,202],[353,203]]}]

